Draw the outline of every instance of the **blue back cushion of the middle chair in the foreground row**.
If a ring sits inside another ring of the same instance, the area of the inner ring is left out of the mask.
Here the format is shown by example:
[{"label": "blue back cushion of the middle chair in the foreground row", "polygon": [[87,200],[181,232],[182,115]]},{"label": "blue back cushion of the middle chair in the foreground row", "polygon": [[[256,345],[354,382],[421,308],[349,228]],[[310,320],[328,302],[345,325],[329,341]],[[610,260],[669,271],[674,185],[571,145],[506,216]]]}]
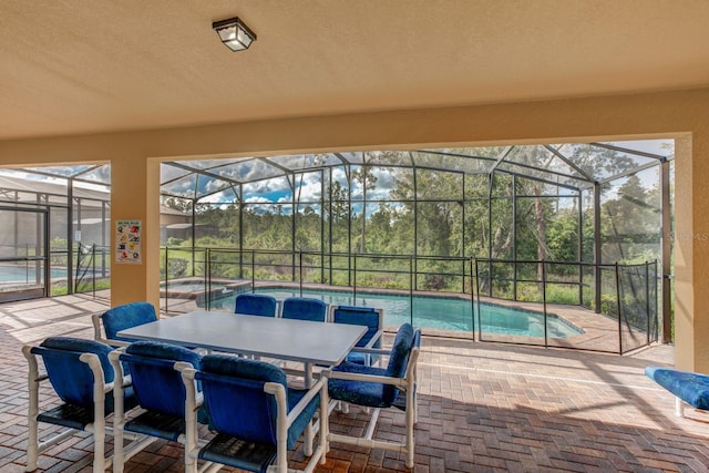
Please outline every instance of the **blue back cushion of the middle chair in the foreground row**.
[{"label": "blue back cushion of the middle chair in the foreground row", "polygon": [[185,384],[176,361],[184,361],[199,369],[202,357],[184,347],[137,341],[131,343],[121,360],[131,371],[133,390],[144,409],[174,417],[185,415]]}]

